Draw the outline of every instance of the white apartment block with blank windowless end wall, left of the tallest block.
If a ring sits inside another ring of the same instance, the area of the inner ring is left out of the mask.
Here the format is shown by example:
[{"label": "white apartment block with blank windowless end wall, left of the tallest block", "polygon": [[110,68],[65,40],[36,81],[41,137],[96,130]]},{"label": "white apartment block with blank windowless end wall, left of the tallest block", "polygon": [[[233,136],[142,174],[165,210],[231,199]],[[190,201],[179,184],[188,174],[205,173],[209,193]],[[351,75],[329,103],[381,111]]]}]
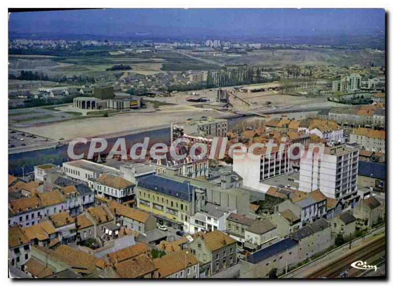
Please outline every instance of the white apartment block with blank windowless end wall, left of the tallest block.
[{"label": "white apartment block with blank windowless end wall, left of the tallest block", "polygon": [[245,154],[243,158],[233,158],[233,171],[243,178],[243,185],[260,190],[261,182],[289,172],[289,156],[286,147],[273,147],[269,154],[264,148],[260,156]]}]

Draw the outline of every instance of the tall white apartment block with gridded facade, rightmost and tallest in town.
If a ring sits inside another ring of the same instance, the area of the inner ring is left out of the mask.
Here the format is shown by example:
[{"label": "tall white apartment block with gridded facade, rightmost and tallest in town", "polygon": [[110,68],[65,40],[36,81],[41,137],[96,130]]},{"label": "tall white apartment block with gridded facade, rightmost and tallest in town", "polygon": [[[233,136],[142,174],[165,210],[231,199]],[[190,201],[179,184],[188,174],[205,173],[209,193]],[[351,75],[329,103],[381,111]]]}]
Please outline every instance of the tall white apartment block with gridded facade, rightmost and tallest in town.
[{"label": "tall white apartment block with gridded facade, rightmost and tallest in town", "polygon": [[350,199],[357,193],[359,149],[357,144],[326,147],[325,153],[308,151],[300,159],[299,189],[319,189],[333,199]]}]

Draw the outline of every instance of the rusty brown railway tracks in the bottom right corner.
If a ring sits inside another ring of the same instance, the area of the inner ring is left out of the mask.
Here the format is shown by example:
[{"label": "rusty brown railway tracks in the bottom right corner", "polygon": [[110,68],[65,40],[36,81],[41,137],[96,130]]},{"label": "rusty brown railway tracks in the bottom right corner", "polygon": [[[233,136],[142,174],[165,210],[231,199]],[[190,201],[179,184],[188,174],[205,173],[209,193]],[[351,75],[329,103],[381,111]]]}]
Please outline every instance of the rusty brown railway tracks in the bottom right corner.
[{"label": "rusty brown railway tracks in the bottom right corner", "polygon": [[360,249],[355,249],[344,257],[339,257],[332,261],[332,263],[316,269],[304,278],[339,278],[339,274],[350,268],[352,262],[357,260],[367,261],[367,258],[374,256],[375,253],[382,253],[383,251],[385,251],[385,236],[370,241]]}]

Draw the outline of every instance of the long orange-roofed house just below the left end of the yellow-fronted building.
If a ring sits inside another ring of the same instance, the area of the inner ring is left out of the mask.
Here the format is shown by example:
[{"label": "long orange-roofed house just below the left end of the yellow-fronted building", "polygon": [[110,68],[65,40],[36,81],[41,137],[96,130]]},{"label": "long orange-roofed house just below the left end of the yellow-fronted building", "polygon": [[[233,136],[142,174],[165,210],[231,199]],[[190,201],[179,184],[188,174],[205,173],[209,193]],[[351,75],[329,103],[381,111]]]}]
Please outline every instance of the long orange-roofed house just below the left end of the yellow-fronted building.
[{"label": "long orange-roofed house just below the left end of the yellow-fronted building", "polygon": [[128,229],[145,234],[157,228],[157,219],[146,211],[130,208],[114,201],[108,204],[108,208],[116,221]]}]

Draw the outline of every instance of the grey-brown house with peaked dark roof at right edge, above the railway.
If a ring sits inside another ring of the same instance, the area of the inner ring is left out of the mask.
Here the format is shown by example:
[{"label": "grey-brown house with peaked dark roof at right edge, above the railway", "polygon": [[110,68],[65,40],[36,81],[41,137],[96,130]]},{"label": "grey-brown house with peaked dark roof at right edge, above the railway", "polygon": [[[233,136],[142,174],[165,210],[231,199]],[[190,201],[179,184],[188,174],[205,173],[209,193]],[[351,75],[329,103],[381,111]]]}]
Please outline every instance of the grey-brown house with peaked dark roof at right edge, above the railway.
[{"label": "grey-brown house with peaked dark roof at right edge, above the railway", "polygon": [[375,196],[369,196],[359,200],[353,208],[353,216],[360,219],[365,227],[369,228],[385,217],[385,206]]}]

